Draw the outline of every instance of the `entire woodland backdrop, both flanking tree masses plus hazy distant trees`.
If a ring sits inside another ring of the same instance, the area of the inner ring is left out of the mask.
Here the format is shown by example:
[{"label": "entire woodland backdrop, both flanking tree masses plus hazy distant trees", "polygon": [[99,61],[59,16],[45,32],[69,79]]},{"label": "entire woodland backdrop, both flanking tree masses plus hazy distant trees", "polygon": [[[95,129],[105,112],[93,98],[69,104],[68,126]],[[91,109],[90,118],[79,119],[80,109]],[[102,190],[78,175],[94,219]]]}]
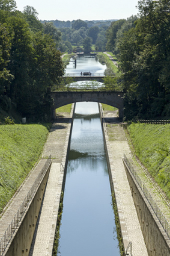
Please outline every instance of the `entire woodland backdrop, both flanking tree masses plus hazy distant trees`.
[{"label": "entire woodland backdrop, both flanking tree masses plus hazy distant trees", "polygon": [[34,7],[20,12],[15,1],[0,0],[1,109],[49,116],[48,91],[64,73],[61,52],[88,43],[117,57],[126,120],[169,119],[170,3],[141,0],[138,9],[121,20],[40,21]]}]

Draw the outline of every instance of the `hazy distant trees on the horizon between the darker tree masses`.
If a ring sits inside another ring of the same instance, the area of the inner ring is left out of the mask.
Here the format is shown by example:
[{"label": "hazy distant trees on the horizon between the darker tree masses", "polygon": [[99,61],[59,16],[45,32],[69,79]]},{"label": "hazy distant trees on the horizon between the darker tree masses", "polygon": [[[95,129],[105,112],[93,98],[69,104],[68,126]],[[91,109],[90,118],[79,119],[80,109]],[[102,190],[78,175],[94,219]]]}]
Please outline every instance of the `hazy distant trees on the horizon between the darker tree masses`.
[{"label": "hazy distant trees on the horizon between the darker tree masses", "polygon": [[[59,50],[76,51],[77,46],[95,45],[96,51],[106,50],[106,30],[111,21],[84,21],[73,20],[72,22],[62,22],[59,20],[42,21],[44,24],[51,24],[61,32],[61,40],[59,41]],[[79,47],[81,48],[81,47]],[[88,48],[90,51],[90,48]]]}]

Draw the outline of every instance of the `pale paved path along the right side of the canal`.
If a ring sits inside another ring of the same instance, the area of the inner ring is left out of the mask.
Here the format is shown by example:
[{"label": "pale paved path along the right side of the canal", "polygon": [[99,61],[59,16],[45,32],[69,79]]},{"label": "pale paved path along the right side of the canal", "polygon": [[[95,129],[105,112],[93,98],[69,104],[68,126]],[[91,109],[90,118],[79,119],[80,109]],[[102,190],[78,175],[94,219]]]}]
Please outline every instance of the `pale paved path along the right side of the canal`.
[{"label": "pale paved path along the right side of the canal", "polygon": [[130,148],[123,127],[121,127],[118,122],[116,114],[113,116],[113,112],[104,111],[104,117],[105,125],[107,124],[108,126],[105,129],[105,137],[124,244],[127,247],[129,242],[132,242],[133,256],[148,256],[129,182],[127,180],[126,170],[124,169],[122,161],[124,154],[126,154],[128,158],[131,158]]}]

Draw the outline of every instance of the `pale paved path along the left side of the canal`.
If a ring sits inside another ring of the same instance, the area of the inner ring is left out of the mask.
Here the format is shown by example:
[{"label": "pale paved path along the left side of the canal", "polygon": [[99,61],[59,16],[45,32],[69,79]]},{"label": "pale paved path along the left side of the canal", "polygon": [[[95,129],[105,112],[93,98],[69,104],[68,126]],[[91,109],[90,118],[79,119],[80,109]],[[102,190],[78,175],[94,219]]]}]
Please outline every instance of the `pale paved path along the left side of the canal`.
[{"label": "pale paved path along the left side of the canal", "polygon": [[63,116],[56,119],[44,146],[43,157],[51,154],[53,161],[29,256],[52,255],[64,175],[62,166],[65,166],[71,116],[72,114],[63,113]]}]

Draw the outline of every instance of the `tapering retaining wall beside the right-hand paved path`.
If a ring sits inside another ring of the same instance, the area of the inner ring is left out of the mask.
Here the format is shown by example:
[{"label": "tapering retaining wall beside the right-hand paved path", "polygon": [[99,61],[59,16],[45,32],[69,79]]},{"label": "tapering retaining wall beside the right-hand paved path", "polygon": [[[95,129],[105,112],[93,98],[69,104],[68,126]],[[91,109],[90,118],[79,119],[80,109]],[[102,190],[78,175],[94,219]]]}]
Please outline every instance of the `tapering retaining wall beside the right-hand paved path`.
[{"label": "tapering retaining wall beside the right-hand paved path", "polygon": [[127,178],[132,191],[133,201],[138,214],[139,223],[144,235],[145,244],[149,256],[169,256],[170,240],[166,235],[156,214],[145,198],[141,188],[136,183],[135,178],[124,161]]}]

